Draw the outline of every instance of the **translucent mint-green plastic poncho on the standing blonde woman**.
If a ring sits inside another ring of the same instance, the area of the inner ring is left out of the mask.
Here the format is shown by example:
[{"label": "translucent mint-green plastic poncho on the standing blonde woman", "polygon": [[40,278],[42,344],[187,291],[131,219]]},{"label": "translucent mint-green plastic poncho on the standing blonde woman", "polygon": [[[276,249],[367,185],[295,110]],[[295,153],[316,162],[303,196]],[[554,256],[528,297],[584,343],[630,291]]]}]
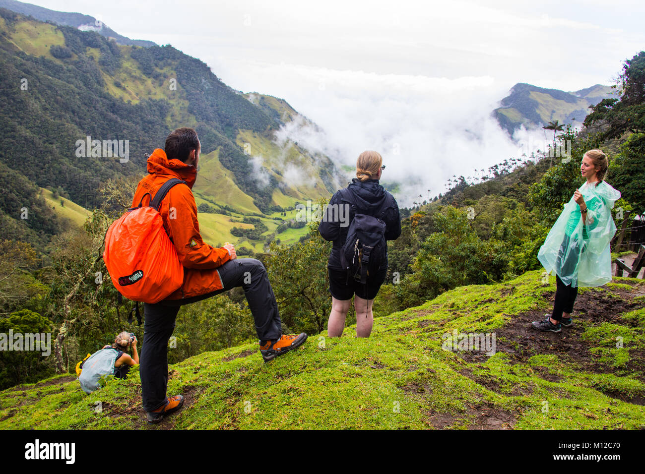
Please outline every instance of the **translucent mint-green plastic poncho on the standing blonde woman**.
[{"label": "translucent mint-green plastic poncho on the standing blonde woman", "polygon": [[620,192],[601,181],[579,188],[587,205],[586,222],[571,197],[555,221],[537,259],[547,273],[556,273],[571,286],[602,286],[611,281],[609,243],[616,232],[611,209]]}]

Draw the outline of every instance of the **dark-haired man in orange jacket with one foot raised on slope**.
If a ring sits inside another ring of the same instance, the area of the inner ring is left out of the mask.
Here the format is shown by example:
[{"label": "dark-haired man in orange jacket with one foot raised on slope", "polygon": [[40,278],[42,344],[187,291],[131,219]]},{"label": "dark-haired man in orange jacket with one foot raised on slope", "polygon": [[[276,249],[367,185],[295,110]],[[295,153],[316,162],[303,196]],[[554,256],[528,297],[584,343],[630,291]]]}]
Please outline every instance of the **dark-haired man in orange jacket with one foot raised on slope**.
[{"label": "dark-haired man in orange jacket with one foot raised on slope", "polygon": [[199,233],[197,205],[192,187],[197,177],[201,144],[192,128],[177,128],[166,138],[164,150],[157,148],[148,157],[148,174],[137,186],[132,207],[147,192],[154,197],[163,183],[179,178],[188,184],[170,188],[159,206],[163,226],[184,266],[184,281],[168,298],[156,304],[144,303],[144,334],[141,350],[141,391],[148,422],[181,408],[184,397],[166,397],[168,386],[168,341],[175,328],[179,308],[236,286],[244,295],[255,321],[260,352],[265,361],[297,348],[307,339],[305,333],[283,335],[280,315],[271,284],[262,262],[237,259],[235,247],[213,248]]}]

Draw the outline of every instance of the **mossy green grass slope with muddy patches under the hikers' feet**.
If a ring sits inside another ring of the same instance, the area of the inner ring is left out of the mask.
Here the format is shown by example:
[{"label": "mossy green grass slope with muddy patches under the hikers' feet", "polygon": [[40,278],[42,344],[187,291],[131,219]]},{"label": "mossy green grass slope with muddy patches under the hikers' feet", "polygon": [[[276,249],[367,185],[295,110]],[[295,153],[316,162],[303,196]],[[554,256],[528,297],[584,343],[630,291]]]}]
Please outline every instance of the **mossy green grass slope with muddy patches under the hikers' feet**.
[{"label": "mossy green grass slope with muddy patches under the hikers' feet", "polygon": [[[541,280],[457,288],[267,364],[256,342],[186,359],[168,382],[183,410],[150,429],[645,428],[645,282],[581,289],[575,325],[545,334],[529,327],[553,302]],[[443,350],[453,330],[495,333],[495,354]],[[90,396],[70,375],[0,392],[0,428],[149,428],[138,371]]]}]

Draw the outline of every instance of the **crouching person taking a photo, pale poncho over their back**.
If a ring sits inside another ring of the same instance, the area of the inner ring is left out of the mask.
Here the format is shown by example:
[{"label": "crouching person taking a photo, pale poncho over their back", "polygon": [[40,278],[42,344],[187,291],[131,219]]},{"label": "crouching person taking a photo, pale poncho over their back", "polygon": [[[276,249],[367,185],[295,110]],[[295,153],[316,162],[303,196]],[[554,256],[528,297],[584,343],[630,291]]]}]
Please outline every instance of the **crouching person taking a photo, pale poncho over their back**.
[{"label": "crouching person taking a photo, pale poncho over their back", "polygon": [[[132,357],[128,355],[129,348],[132,348]],[[85,393],[92,393],[110,376],[125,379],[134,364],[139,364],[137,338],[134,334],[123,331],[117,335],[114,344],[104,346],[83,361],[79,375],[81,388]]]}]

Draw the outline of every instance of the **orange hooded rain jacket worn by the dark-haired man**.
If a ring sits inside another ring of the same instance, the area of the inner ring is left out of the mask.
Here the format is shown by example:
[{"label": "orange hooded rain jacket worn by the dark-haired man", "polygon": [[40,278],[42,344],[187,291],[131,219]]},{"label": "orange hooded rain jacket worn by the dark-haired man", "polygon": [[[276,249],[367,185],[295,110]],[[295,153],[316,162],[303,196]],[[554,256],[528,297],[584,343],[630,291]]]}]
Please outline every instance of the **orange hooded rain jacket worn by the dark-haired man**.
[{"label": "orange hooded rain jacket worn by the dark-haired man", "polygon": [[[155,193],[170,178],[179,178],[188,183],[177,184],[170,188],[159,206],[163,226],[175,244],[179,261],[184,266],[184,282],[164,301],[204,295],[223,288],[217,267],[231,259],[225,248],[214,248],[204,243],[197,222],[197,204],[191,192],[197,170],[178,159],[169,160],[166,152],[157,148],[148,157],[148,174],[137,186],[132,199],[132,207],[138,206],[145,193],[154,197]],[[142,205],[148,206],[148,197]],[[173,217],[172,219],[170,217]]]}]

